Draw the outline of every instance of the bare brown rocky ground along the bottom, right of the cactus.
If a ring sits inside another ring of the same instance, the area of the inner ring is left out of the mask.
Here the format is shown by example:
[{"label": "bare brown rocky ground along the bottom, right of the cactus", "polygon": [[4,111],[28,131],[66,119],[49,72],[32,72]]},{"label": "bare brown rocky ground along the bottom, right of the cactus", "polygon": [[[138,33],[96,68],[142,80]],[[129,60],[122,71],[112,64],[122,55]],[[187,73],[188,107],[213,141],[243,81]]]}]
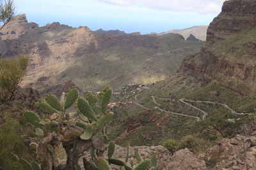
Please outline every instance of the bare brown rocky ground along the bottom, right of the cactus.
[{"label": "bare brown rocky ground along the bottom, right of the cactus", "polygon": [[[157,153],[157,169],[250,169],[256,167],[256,132],[252,136],[237,135],[231,139],[221,139],[218,145],[208,148],[204,153],[195,155],[188,148],[171,153],[163,146],[139,146],[142,157],[150,159],[151,153]],[[113,158],[125,161],[126,149],[116,146]],[[130,163],[136,164],[134,147],[130,148]],[[90,159],[90,154],[85,157]],[[104,157],[108,158],[107,153]],[[81,160],[81,166],[82,160]],[[112,166],[113,169],[118,169]]]}]

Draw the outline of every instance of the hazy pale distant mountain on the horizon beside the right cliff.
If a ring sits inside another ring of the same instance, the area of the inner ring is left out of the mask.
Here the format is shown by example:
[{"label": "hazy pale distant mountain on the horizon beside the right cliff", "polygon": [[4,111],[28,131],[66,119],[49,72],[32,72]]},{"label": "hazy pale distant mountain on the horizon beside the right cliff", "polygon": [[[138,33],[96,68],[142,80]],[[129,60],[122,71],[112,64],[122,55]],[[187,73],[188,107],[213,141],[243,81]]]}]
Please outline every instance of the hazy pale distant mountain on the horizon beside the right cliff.
[{"label": "hazy pale distant mountain on the horizon beside the right cliff", "polygon": [[169,33],[177,33],[184,36],[184,38],[188,38],[190,34],[193,34],[196,38],[205,41],[206,40],[206,32],[207,32],[207,25],[201,26],[194,26],[187,29],[172,29],[166,32],[161,32],[159,35],[169,34]]}]

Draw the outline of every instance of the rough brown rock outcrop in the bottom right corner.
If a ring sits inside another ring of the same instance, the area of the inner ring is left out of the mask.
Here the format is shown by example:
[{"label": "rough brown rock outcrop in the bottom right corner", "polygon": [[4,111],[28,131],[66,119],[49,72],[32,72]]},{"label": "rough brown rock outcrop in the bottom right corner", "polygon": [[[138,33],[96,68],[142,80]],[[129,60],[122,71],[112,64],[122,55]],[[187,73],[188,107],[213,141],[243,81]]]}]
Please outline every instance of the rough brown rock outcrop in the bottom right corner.
[{"label": "rough brown rock outcrop in the bottom right corner", "polygon": [[256,137],[241,136],[222,139],[198,157],[205,160],[211,169],[255,169]]}]

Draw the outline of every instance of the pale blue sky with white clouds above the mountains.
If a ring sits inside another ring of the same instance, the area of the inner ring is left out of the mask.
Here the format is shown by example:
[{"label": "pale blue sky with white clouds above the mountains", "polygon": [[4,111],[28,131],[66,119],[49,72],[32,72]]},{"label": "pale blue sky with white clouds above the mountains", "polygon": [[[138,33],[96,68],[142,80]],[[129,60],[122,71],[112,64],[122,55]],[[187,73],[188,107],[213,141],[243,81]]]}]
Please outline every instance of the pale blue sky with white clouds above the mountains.
[{"label": "pale blue sky with white clouds above the mountains", "polygon": [[14,0],[17,15],[40,26],[52,22],[72,27],[119,29],[127,33],[164,32],[209,25],[224,0]]}]

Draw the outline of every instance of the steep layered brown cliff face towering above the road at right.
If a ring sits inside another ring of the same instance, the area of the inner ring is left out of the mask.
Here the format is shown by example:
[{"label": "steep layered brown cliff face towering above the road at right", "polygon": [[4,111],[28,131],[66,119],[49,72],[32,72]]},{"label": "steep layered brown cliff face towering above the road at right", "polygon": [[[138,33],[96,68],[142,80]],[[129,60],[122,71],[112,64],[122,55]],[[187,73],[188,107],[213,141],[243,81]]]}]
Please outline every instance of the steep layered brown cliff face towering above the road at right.
[{"label": "steep layered brown cliff face towering above the road at right", "polygon": [[207,30],[207,43],[198,55],[188,57],[180,73],[217,81],[232,89],[255,90],[256,1],[225,1]]}]

